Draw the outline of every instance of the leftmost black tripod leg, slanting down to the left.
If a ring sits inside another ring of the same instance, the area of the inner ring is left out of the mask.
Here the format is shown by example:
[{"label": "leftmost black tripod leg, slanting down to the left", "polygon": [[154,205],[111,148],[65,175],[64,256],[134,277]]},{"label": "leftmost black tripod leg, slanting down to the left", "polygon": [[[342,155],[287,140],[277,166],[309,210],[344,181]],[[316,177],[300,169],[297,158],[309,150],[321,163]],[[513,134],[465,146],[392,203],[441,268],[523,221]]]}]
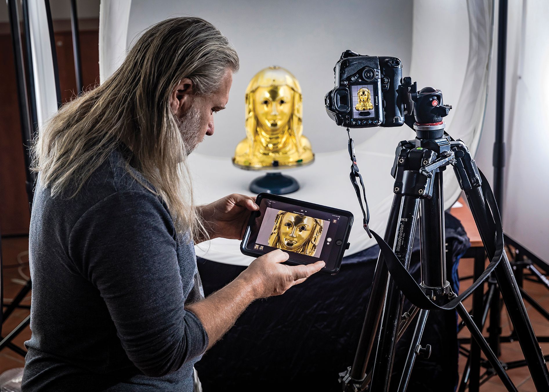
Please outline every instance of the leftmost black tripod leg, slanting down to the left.
[{"label": "leftmost black tripod leg, slanting down to the left", "polygon": [[[396,228],[399,222],[399,209],[402,197],[395,195],[393,198],[393,206],[389,215],[389,221],[385,229],[384,239],[389,244],[395,240]],[[383,310],[383,301],[386,292],[387,281],[389,279],[389,271],[383,260],[383,256],[379,254],[374,272],[374,279],[368,307],[366,308],[366,317],[362,325],[360,340],[356,349],[355,360],[352,363],[350,376],[352,379],[361,380],[365,377],[368,358],[372,353],[374,341],[376,341],[376,333]]]}]

